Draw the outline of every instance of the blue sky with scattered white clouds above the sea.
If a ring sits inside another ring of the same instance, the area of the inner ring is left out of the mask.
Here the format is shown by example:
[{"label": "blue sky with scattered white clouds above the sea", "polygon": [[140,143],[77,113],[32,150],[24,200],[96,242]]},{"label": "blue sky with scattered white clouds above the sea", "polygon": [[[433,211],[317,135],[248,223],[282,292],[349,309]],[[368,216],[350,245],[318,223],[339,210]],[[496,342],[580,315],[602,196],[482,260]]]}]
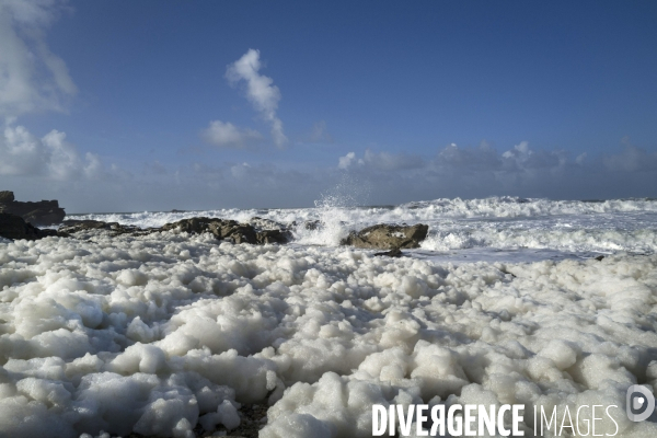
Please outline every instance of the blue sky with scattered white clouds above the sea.
[{"label": "blue sky with scattered white clouds above the sea", "polygon": [[0,185],[22,198],[657,196],[652,1],[0,8]]}]

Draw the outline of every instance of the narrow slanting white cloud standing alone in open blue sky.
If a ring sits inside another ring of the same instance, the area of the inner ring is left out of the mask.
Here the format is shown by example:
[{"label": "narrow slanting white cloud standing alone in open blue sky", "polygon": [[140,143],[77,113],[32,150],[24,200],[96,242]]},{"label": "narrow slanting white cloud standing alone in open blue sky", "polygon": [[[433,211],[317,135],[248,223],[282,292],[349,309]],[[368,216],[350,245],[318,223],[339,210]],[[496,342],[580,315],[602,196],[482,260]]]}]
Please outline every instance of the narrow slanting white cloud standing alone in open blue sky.
[{"label": "narrow slanting white cloud standing alone in open blue sky", "polygon": [[283,122],[276,115],[280,90],[274,85],[274,80],[260,74],[260,50],[249,49],[240,59],[228,66],[226,77],[232,85],[244,81],[246,83],[246,97],[256,111],[272,126],[272,137],[279,148],[288,141],[283,131]]}]

